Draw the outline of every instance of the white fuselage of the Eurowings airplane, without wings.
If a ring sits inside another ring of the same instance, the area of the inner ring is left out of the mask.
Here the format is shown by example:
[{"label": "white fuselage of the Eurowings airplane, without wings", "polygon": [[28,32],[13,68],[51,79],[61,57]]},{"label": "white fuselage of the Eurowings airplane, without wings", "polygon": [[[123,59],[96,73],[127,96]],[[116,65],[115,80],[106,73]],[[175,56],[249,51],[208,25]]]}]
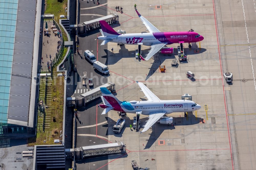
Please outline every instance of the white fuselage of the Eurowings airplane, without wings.
[{"label": "white fuselage of the Eurowings airplane, without wings", "polygon": [[164,111],[166,114],[173,112],[192,112],[200,109],[190,100],[161,100],[161,101],[130,101],[122,102],[120,105],[112,105],[114,111],[149,115],[152,112]]}]

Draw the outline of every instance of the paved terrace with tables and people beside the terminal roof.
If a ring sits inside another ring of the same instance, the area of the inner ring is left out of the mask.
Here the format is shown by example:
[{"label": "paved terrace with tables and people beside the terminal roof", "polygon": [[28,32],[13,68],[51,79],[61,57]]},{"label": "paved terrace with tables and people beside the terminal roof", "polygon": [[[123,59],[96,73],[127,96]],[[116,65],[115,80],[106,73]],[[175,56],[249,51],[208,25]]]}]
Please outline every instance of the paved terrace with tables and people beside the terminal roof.
[{"label": "paved terrace with tables and people beside the terminal roof", "polygon": [[[44,29],[46,27],[46,22],[47,22],[47,26],[48,29],[50,29],[50,35],[44,35]],[[61,38],[58,35],[54,34],[54,31],[51,29],[51,26],[54,25],[53,24],[53,20],[51,21],[44,21],[44,27],[41,29],[42,30],[42,67],[41,67],[41,71],[48,71],[48,64],[47,62],[51,63],[52,60],[54,60],[56,53],[58,51],[58,41],[61,41]]]}]

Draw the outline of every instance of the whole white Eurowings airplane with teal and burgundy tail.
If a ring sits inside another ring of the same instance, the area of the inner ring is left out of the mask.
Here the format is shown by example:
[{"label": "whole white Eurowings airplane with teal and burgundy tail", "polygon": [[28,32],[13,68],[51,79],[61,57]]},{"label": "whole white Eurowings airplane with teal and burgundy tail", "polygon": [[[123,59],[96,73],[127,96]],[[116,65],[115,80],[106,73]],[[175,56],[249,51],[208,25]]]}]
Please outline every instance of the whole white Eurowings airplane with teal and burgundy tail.
[{"label": "whole white Eurowings airplane with teal and burgundy tail", "polygon": [[100,104],[99,106],[104,108],[102,114],[106,114],[110,110],[114,110],[119,112],[149,115],[149,120],[141,131],[145,132],[159,119],[160,124],[171,124],[173,122],[173,118],[163,117],[165,114],[173,112],[192,112],[201,108],[199,104],[190,100],[160,100],[143,83],[137,83],[140,86],[141,91],[145,94],[145,97],[147,97],[147,101],[121,102],[107,88],[100,88],[103,104]]}]

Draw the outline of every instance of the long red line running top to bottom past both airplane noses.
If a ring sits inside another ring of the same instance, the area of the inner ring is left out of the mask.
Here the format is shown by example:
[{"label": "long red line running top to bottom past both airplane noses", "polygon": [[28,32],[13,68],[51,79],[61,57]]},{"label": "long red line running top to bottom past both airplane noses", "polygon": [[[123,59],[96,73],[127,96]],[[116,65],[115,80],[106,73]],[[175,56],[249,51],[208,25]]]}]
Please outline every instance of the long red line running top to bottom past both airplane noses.
[{"label": "long red line running top to bottom past both airplane noses", "polygon": [[[214,11],[215,30],[216,30],[216,37],[217,37],[217,43],[218,43],[218,52],[219,52],[219,61],[220,61],[220,72],[221,72],[221,75],[222,75],[223,72],[222,72],[222,67],[221,67],[220,46],[219,46],[219,39],[218,39],[217,22],[216,22],[216,16],[215,16],[216,13],[215,13],[215,8],[214,8],[214,6],[215,6],[214,0],[212,0],[212,6],[213,6],[213,11]],[[229,136],[230,134],[229,134],[229,127],[228,127],[228,114],[227,114],[227,106],[226,106],[224,83],[223,83],[223,79],[221,79],[221,80],[222,80],[223,97],[224,97],[226,120],[227,120],[227,128],[228,128],[228,140],[229,140],[229,149],[230,149],[231,163],[232,163],[232,169],[234,169],[233,158],[232,158],[232,150],[231,150],[231,142],[230,142],[230,136]]]}]

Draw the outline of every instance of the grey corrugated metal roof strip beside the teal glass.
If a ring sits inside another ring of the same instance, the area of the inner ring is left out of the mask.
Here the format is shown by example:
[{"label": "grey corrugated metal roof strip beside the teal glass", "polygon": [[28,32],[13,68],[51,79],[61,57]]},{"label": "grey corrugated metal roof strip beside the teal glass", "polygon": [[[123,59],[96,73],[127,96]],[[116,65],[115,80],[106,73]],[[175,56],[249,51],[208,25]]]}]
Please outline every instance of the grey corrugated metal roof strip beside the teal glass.
[{"label": "grey corrugated metal roof strip beside the teal glass", "polygon": [[29,115],[35,18],[36,0],[30,0],[29,4],[27,0],[19,0],[8,119],[24,122],[28,122]]}]

